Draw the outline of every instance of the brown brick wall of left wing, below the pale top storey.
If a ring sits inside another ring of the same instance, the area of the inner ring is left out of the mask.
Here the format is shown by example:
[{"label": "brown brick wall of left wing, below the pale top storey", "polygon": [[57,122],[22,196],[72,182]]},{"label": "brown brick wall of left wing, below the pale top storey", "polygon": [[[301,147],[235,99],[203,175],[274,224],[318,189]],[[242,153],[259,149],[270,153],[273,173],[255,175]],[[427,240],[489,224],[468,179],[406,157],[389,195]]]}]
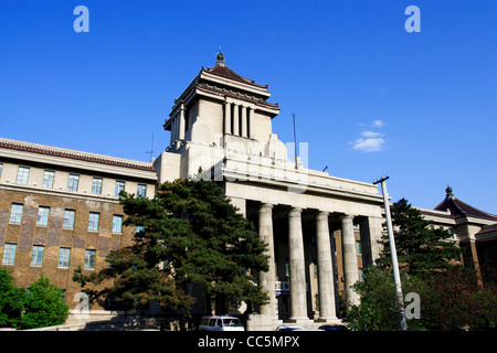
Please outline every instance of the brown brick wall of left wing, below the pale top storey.
[{"label": "brown brick wall of left wing, below the pale top storey", "polygon": [[[21,224],[9,223],[12,203],[23,204]],[[38,226],[39,206],[50,207],[47,226]],[[63,228],[64,210],[74,210],[73,229]],[[101,213],[98,231],[88,231],[89,212]],[[123,206],[116,200],[95,201],[84,197],[0,190],[0,264],[6,243],[17,244],[14,265],[1,265],[13,270],[18,286],[28,287],[40,277],[40,272],[66,290],[70,308],[77,303],[74,296],[81,291],[72,280],[74,270],[83,268],[86,249],[96,250],[95,270],[107,266],[105,256],[109,250],[131,244],[134,228],[123,227],[121,234],[112,233],[113,216],[124,215]],[[42,266],[32,266],[33,245],[44,246]],[[71,248],[68,268],[59,267],[61,247]],[[92,270],[84,270],[89,274]]]}]

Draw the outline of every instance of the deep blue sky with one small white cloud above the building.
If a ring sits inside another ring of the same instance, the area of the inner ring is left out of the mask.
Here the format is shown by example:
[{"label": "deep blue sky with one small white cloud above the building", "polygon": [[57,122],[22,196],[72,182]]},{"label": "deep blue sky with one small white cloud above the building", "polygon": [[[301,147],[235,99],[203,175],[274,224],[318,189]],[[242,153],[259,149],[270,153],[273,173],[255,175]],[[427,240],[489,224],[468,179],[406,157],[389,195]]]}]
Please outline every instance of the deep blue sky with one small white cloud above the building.
[{"label": "deep blue sky with one small white cloud above the building", "polygon": [[[76,6],[89,32],[76,33]],[[421,10],[409,33],[408,6]],[[497,1],[0,0],[0,136],[137,160],[173,99],[226,64],[268,84],[309,167],[432,208],[497,214]]]}]

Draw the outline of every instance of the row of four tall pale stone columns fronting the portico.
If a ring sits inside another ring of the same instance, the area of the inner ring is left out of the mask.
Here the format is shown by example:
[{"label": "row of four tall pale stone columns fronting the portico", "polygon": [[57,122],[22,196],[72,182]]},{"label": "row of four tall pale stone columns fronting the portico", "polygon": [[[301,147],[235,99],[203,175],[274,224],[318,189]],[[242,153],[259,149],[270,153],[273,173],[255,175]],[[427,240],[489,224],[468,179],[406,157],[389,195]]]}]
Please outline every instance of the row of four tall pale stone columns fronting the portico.
[{"label": "row of four tall pale stone columns fronting the portico", "polygon": [[[271,257],[268,271],[260,274],[260,284],[269,297],[269,302],[261,308],[261,314],[277,319],[272,210],[272,204],[262,204],[258,210],[260,238],[267,245],[267,252]],[[316,216],[316,244],[318,256],[319,319],[332,321],[337,319],[337,315],[335,306],[335,271],[328,215],[328,212],[319,212]],[[359,280],[352,220],[352,215],[343,215],[341,217],[345,287],[349,298],[349,304],[356,304],[359,300],[357,293],[351,289],[351,286]],[[289,319],[308,320],[302,208],[298,207],[293,207],[288,213],[288,247],[290,286]]]}]

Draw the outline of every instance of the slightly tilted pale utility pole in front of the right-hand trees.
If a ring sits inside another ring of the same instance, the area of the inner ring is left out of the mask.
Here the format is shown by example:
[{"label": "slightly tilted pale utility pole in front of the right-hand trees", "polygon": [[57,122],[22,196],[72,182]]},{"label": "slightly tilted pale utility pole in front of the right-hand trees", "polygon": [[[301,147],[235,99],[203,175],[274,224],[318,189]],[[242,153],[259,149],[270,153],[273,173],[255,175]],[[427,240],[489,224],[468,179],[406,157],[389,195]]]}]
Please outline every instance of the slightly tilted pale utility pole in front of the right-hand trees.
[{"label": "slightly tilted pale utility pole in front of the right-hand trees", "polygon": [[404,309],[404,296],[402,295],[402,285],[399,274],[399,263],[396,260],[395,239],[393,238],[392,217],[390,215],[389,194],[387,192],[387,183],[385,183],[387,179],[389,179],[389,175],[376,180],[373,184],[381,183],[381,190],[383,193],[384,215],[387,217],[387,231],[389,234],[389,243],[390,243],[390,255],[392,257],[392,270],[393,270],[393,281],[395,284],[396,306],[399,309],[399,325],[401,331],[408,331],[408,322],[405,320],[405,309]]}]

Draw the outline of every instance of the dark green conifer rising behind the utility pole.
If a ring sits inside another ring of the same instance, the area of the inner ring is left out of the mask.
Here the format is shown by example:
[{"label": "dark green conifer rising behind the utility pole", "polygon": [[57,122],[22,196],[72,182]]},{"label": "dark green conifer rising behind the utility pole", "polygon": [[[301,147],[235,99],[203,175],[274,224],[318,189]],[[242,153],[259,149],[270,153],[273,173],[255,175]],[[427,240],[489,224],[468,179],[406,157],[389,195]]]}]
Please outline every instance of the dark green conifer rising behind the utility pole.
[{"label": "dark green conifer rising behind the utility pole", "polygon": [[[391,215],[399,267],[405,268],[408,274],[426,276],[452,267],[452,260],[461,258],[461,249],[450,239],[452,235],[430,227],[421,211],[405,199],[393,203]],[[383,256],[377,263],[390,266],[390,245],[388,237],[384,239]]]}]

